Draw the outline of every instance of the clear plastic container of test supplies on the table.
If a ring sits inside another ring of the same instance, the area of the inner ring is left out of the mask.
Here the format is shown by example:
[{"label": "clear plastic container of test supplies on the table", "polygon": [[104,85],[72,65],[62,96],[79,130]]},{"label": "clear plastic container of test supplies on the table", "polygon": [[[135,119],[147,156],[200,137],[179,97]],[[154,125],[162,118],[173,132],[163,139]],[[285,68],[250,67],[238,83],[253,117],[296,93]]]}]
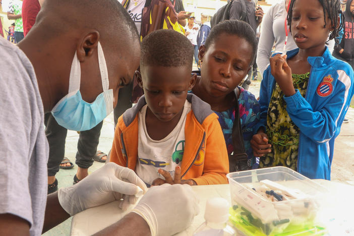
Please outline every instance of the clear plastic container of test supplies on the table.
[{"label": "clear plastic container of test supplies on the table", "polygon": [[324,235],[316,220],[327,189],[287,167],[228,173],[230,221],[246,235]]}]

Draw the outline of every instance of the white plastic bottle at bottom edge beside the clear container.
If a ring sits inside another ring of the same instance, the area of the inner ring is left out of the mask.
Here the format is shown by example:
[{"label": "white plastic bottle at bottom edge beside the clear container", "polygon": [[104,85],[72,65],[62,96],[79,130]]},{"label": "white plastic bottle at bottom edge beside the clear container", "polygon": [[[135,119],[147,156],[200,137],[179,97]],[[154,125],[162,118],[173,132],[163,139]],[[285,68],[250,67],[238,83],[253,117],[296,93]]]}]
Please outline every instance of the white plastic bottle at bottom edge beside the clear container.
[{"label": "white plastic bottle at bottom edge beside the clear container", "polygon": [[236,235],[234,229],[227,225],[229,203],[223,198],[208,199],[204,219],[193,236],[229,236]]}]

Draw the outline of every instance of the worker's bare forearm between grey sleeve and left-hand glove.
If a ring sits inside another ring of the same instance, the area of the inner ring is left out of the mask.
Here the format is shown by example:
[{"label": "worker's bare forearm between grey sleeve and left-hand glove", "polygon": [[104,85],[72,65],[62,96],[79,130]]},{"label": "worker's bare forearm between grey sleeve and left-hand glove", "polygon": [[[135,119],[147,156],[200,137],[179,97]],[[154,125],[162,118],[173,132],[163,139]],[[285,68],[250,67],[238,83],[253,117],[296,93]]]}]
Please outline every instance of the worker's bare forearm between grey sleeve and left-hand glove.
[{"label": "worker's bare forearm between grey sleeve and left-hand glove", "polygon": [[55,192],[49,194],[47,197],[47,205],[45,207],[43,233],[62,223],[69,217],[70,215],[62,208],[59,203],[58,193]]}]

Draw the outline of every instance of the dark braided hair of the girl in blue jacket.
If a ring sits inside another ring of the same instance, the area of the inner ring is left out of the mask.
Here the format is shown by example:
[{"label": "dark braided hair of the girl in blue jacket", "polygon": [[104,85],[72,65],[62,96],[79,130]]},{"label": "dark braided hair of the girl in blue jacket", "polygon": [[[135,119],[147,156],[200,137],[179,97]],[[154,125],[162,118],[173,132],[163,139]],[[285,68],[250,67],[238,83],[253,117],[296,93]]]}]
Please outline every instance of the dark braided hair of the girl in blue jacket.
[{"label": "dark braided hair of the girl in blue jacket", "polygon": [[[292,8],[296,0],[290,0],[289,11],[287,12],[287,24],[289,25],[291,32],[291,20],[292,20]],[[326,13],[331,20],[331,25],[334,28],[332,33],[329,35],[329,40],[338,37],[339,31],[343,28],[344,24],[344,14],[340,9],[340,0],[318,0],[323,8],[323,16],[325,24],[323,28],[327,26]],[[338,16],[340,14],[340,22],[338,22]],[[338,27],[337,27],[338,26]],[[335,39],[337,41],[337,39]]]}]

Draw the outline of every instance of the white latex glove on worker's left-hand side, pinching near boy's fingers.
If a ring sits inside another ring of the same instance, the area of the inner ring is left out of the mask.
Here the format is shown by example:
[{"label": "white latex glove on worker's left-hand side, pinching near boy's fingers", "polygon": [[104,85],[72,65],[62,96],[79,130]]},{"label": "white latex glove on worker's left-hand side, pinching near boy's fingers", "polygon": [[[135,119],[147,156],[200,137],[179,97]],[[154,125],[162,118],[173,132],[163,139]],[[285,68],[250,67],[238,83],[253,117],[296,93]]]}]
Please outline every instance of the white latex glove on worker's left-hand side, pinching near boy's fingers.
[{"label": "white latex glove on worker's left-hand side, pinching near boy's fingers", "polygon": [[78,184],[60,188],[58,199],[70,215],[122,198],[120,208],[125,210],[129,204],[136,203],[137,197],[134,195],[141,191],[138,186],[144,193],[147,191],[146,185],[133,170],[110,162]]}]

